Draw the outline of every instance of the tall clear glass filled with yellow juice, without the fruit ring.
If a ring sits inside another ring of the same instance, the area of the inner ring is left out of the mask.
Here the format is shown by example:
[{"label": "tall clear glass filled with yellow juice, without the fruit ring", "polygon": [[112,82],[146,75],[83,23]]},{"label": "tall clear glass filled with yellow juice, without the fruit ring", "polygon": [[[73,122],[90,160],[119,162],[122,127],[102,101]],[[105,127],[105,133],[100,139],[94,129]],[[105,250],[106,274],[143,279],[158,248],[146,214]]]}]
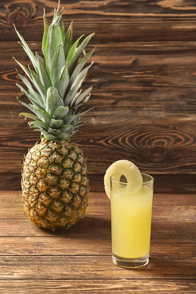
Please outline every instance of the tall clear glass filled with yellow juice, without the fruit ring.
[{"label": "tall clear glass filled with yellow juice, without the fruit ring", "polygon": [[124,268],[140,268],[149,260],[154,179],[142,177],[141,184],[126,183],[121,174],[110,178],[112,258]]}]

